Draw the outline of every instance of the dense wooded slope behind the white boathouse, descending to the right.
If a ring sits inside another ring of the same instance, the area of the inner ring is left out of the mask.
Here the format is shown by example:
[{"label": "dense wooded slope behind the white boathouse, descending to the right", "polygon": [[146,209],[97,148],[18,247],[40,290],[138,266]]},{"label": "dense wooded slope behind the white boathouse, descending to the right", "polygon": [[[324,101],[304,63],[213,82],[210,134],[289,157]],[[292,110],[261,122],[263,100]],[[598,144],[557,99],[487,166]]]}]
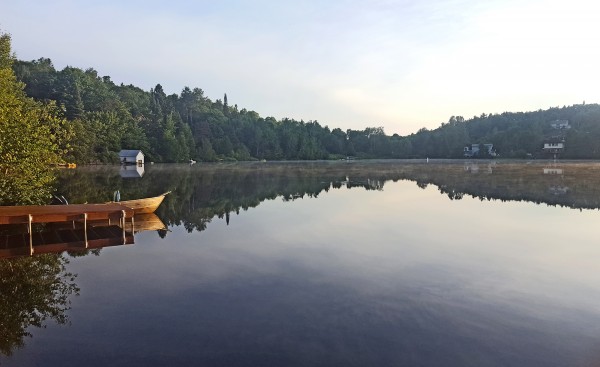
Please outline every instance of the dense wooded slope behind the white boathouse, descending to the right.
[{"label": "dense wooded slope behind the white boathouse, descending to the right", "polygon": [[384,156],[382,128],[330,130],[317,121],[276,120],[210,100],[200,88],[167,95],[117,85],[94,69],[56,70],[50,59],[17,61],[28,96],[54,101],[74,131],[66,159],[114,162],[120,149],[141,149],[151,161],[315,160]]}]

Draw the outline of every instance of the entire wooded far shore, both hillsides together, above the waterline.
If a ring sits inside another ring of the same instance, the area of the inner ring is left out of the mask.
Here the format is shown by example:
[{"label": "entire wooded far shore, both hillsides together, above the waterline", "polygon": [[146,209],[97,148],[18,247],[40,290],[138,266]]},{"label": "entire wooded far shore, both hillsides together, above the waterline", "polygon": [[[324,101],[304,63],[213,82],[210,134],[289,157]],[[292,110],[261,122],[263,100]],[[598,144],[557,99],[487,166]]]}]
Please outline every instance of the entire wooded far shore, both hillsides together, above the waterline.
[{"label": "entire wooded far shore, both hillsides together, above the waterline", "polygon": [[[461,158],[473,144],[493,144],[500,157],[525,158],[544,156],[544,143],[551,141],[564,145],[559,157],[600,158],[597,104],[451,117],[435,130],[388,136],[380,127],[343,131],[317,121],[263,118],[230,105],[226,94],[212,101],[199,88],[166,95],[160,84],[150,91],[116,85],[94,69],[56,70],[50,59],[17,61],[13,69],[30,97],[63,107],[74,132],[67,158],[79,163],[115,162],[120,149],[141,149],[157,162]],[[568,121],[569,128],[552,127],[557,121]],[[474,157],[488,157],[487,150]]]}]

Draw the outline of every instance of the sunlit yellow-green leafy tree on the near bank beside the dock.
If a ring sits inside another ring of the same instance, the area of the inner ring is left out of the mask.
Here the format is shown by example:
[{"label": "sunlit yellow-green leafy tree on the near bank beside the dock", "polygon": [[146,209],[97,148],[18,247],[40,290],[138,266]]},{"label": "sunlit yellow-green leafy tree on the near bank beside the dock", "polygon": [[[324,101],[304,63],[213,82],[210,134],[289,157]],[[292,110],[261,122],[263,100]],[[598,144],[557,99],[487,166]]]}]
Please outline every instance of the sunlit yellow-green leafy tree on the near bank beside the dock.
[{"label": "sunlit yellow-green leafy tree on the near bank beside the dock", "polygon": [[0,204],[44,202],[54,181],[50,165],[70,150],[73,130],[54,102],[25,95],[11,69],[6,34],[0,52]]}]

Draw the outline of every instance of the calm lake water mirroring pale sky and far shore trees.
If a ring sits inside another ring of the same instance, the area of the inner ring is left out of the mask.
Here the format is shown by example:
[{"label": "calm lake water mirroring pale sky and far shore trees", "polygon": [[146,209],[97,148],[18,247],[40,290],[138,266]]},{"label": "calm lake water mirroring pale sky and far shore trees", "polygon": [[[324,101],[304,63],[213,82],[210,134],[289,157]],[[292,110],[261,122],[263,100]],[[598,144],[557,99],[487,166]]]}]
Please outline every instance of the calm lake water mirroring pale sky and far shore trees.
[{"label": "calm lake water mirroring pale sky and far shore trees", "polygon": [[[598,366],[600,163],[350,161],[62,172],[168,231],[64,258],[68,324],[4,366]],[[0,260],[13,261],[13,260]]]}]

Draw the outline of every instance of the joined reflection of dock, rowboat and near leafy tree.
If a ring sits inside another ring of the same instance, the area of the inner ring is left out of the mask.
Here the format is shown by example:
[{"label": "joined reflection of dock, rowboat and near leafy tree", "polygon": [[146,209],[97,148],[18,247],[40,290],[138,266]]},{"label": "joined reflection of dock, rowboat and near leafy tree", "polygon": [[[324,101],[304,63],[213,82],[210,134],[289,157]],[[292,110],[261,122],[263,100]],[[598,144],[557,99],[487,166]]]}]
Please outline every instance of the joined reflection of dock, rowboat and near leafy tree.
[{"label": "joined reflection of dock, rowboat and near leafy tree", "polygon": [[137,214],[121,227],[110,220],[87,221],[86,228],[77,222],[38,224],[31,237],[27,226],[0,225],[0,354],[22,348],[33,327],[67,324],[70,297],[79,295],[77,275],[67,271],[69,258],[131,245],[134,234],[144,231],[164,237],[166,226],[154,213]]}]

